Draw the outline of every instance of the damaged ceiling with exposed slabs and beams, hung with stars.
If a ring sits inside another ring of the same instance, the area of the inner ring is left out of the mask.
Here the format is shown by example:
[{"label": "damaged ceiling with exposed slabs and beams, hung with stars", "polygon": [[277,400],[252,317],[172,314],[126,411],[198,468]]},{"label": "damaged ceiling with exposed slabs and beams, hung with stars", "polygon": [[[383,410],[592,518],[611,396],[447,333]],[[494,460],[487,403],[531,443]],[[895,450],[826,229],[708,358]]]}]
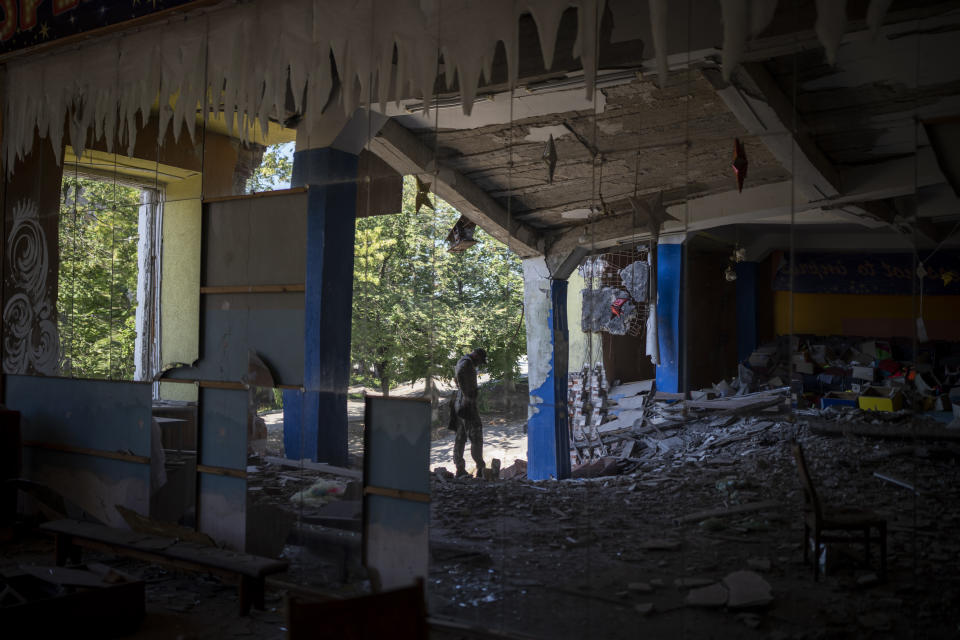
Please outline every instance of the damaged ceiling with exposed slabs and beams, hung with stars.
[{"label": "damaged ceiling with exposed slabs and beams, hung with stars", "polygon": [[[814,3],[780,3],[729,82],[718,7],[704,3],[692,23],[675,9],[662,83],[646,12],[626,4],[612,1],[604,15],[592,101],[578,61],[566,60],[552,77],[521,73],[513,100],[509,86],[481,86],[471,117],[455,93],[428,116],[394,111],[405,141],[388,127],[371,148],[398,170],[431,176],[439,195],[465,200],[461,210],[488,231],[509,228],[521,255],[555,254],[554,266],[585,245],[649,237],[627,198],[661,191],[676,218],[665,232],[735,224],[749,242],[750,225],[795,222],[837,225],[856,246],[866,229],[885,230],[888,247],[947,238],[960,201],[940,169],[943,152],[917,123],[960,109],[960,71],[943,63],[960,55],[960,4],[894,2],[874,33],[869,3],[850,2],[831,65]],[[731,167],[737,139],[749,159],[742,193]],[[403,150],[414,144],[420,160],[411,163]]]}]

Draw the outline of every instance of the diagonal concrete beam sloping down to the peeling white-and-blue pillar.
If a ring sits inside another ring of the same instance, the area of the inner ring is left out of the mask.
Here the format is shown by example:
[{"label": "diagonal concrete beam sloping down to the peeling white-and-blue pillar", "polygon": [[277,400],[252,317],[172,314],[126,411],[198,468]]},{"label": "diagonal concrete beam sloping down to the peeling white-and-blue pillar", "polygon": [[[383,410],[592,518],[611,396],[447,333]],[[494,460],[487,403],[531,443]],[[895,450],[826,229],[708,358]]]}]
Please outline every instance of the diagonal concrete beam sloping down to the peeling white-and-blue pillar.
[{"label": "diagonal concrete beam sloping down to the peeling white-and-blue pillar", "polygon": [[402,125],[389,120],[368,148],[394,171],[417,175],[432,191],[521,258],[543,255],[543,238],[510,216],[486,191],[462,173],[437,162],[433,149]]}]

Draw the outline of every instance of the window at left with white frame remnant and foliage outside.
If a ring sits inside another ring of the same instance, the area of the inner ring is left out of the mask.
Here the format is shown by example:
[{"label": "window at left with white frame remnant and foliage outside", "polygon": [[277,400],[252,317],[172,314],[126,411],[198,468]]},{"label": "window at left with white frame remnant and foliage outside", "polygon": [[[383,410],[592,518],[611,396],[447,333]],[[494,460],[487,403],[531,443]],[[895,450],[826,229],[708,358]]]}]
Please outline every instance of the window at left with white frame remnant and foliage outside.
[{"label": "window at left with white frame remnant and foliage outside", "polygon": [[158,366],[159,221],[155,186],[65,172],[56,310],[61,375],[152,377]]}]

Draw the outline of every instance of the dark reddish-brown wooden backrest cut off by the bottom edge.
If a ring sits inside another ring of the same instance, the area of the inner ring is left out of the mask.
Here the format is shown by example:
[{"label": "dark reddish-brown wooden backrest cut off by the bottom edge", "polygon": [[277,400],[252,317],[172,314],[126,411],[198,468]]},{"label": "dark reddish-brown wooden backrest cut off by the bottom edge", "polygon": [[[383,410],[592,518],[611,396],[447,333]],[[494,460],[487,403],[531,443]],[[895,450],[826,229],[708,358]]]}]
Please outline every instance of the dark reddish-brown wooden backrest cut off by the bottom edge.
[{"label": "dark reddish-brown wooden backrest cut off by the bottom edge", "polygon": [[423,580],[402,589],[346,600],[287,599],[287,638],[427,640]]}]

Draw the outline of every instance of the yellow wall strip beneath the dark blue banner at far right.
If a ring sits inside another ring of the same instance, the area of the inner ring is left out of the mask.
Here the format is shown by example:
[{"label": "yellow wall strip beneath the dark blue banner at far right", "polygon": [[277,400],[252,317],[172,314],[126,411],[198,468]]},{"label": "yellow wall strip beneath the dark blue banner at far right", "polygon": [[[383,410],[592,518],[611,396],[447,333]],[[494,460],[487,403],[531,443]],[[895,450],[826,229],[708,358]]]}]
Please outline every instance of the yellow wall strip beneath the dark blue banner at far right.
[{"label": "yellow wall strip beneath the dark blue banner at far right", "polygon": [[[793,294],[794,333],[912,336],[911,296]],[[960,340],[960,296],[924,296],[923,319],[932,340]],[[774,292],[777,333],[790,333],[790,292]]]}]

